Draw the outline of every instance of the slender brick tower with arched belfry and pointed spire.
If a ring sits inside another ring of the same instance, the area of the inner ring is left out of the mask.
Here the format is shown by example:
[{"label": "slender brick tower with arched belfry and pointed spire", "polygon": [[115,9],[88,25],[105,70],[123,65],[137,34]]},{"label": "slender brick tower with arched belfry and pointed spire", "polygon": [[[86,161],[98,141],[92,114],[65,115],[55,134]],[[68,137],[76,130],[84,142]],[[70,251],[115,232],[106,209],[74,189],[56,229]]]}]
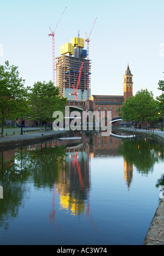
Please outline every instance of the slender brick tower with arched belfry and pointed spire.
[{"label": "slender brick tower with arched belfry and pointed spire", "polygon": [[124,102],[127,98],[133,96],[133,75],[130,71],[129,66],[127,65],[127,69],[124,75]]}]

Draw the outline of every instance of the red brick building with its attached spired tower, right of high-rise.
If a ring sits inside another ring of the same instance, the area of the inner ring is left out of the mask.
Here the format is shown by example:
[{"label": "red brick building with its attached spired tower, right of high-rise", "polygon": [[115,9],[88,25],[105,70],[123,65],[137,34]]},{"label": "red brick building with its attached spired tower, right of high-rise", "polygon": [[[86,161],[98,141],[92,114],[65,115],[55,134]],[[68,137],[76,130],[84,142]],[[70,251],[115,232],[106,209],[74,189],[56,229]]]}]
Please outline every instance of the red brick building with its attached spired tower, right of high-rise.
[{"label": "red brick building with its attached spired tower, right of high-rise", "polygon": [[90,100],[85,103],[86,110],[111,111],[112,118],[118,117],[118,110],[122,106],[122,102],[133,95],[132,77],[133,75],[127,65],[124,75],[124,95],[91,95]]}]

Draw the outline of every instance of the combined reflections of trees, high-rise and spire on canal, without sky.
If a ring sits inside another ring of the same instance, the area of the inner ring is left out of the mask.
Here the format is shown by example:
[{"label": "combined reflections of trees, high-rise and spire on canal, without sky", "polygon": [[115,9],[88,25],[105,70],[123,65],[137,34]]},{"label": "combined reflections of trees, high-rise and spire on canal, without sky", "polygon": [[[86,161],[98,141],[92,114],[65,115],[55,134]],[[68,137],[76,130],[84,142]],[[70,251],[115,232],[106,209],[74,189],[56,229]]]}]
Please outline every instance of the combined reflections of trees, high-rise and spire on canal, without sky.
[{"label": "combined reflections of trees, high-rise and spire on canal, without sky", "polygon": [[[77,138],[76,138],[77,137]],[[73,139],[55,139],[1,152],[0,185],[4,200],[0,200],[0,225],[8,229],[9,219],[19,212],[19,207],[37,190],[52,191],[50,222],[56,216],[56,196],[60,197],[59,210],[73,216],[91,217],[91,160],[123,156],[124,179],[127,189],[133,181],[133,168],[148,175],[156,162],[163,161],[163,147],[142,138],[122,139],[102,137],[101,133],[75,133]],[[158,183],[163,184],[163,177]]]}]

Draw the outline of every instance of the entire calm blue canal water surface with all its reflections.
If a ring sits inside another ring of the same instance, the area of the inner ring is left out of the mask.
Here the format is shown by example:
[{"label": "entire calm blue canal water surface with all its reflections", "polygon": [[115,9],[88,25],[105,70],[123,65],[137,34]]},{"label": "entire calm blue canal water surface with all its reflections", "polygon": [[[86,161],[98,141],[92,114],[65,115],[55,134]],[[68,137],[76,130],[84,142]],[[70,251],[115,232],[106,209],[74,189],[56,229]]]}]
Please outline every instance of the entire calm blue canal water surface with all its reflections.
[{"label": "entire calm blue canal water surface with all its reflections", "polygon": [[0,245],[143,245],[163,174],[147,138],[76,133],[1,151]]}]

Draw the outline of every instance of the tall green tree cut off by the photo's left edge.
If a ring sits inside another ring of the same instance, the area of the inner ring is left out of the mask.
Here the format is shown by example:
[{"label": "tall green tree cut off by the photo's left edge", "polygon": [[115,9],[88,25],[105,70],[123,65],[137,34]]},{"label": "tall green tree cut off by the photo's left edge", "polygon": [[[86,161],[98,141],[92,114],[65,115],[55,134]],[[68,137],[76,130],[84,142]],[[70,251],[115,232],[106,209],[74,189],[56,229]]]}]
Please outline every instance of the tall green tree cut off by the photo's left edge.
[{"label": "tall green tree cut off by the photo's left edge", "polygon": [[20,116],[25,109],[27,90],[24,82],[19,77],[17,67],[5,65],[0,66],[0,121],[2,123],[1,137],[3,137],[3,123],[5,119],[14,120]]}]

